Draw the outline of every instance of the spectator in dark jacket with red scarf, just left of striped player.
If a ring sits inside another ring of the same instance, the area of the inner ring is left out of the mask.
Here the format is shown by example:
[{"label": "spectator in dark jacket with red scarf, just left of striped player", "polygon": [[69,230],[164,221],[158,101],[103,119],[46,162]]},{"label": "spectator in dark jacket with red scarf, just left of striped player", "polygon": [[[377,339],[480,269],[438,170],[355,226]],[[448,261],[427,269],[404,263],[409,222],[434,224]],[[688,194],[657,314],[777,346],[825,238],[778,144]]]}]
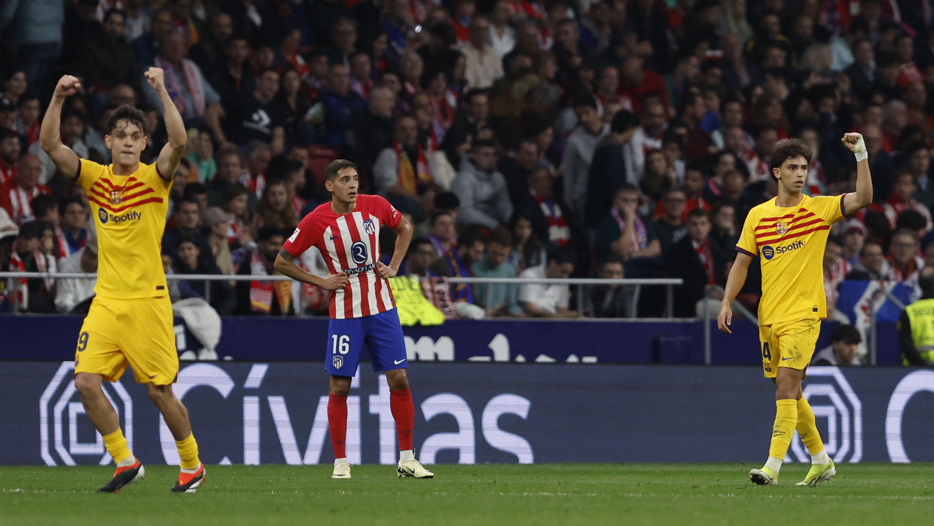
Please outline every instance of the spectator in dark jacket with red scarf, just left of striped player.
[{"label": "spectator in dark jacket with red scarf, just left of striped player", "polygon": [[265,226],[258,232],[257,249],[249,254],[237,271],[239,276],[258,278],[237,281],[237,314],[281,316],[295,313],[291,282],[262,279],[276,273],[273,263],[276,263],[276,255],[285,241],[285,233],[276,227]]}]

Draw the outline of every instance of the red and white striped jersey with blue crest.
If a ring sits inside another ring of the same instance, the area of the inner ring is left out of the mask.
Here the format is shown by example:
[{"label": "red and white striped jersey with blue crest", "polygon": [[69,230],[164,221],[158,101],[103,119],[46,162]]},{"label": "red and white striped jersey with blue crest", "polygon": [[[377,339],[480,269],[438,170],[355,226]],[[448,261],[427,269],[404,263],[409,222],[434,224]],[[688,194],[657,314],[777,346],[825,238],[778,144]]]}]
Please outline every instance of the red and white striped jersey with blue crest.
[{"label": "red and white striped jersey with blue crest", "polygon": [[357,206],[339,215],[325,203],[298,223],[282,247],[299,257],[317,247],[331,274],[346,272],[347,286],[331,292],[331,318],[362,318],[395,308],[389,281],[376,276],[379,261],[379,228],[396,228],[402,214],[379,195],[358,195]]}]

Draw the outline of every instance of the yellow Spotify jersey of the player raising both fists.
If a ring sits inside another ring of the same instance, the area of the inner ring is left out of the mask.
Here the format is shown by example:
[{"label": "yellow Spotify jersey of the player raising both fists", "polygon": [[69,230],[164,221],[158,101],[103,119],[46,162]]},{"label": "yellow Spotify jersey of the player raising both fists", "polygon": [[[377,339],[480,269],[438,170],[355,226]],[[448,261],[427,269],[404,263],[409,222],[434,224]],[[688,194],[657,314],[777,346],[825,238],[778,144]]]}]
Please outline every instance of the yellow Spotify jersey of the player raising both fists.
[{"label": "yellow Spotify jersey of the player raising both fists", "polygon": [[162,246],[172,181],[159,177],[155,163],[117,176],[113,164],[81,159],[78,184],[88,192],[97,230],[94,293],[118,299],[166,295]]}]

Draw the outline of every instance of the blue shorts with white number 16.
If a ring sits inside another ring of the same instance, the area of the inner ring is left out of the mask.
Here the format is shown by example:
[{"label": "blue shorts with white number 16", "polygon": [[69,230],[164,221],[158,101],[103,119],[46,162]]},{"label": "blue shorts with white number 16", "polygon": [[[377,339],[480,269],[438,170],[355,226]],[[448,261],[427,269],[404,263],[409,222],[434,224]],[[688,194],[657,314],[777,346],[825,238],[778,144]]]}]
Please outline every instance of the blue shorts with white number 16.
[{"label": "blue shorts with white number 16", "polygon": [[373,316],[332,319],[328,324],[324,368],[338,377],[354,376],[364,343],[370,349],[374,372],[408,367],[403,326],[399,323],[399,313],[392,308]]}]

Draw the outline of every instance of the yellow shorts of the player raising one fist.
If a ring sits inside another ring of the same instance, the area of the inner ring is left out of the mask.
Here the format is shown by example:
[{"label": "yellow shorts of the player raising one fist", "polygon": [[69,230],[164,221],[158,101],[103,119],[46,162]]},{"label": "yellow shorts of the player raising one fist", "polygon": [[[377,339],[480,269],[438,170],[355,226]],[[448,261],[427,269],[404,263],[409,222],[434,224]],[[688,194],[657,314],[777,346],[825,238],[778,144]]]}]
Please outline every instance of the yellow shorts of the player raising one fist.
[{"label": "yellow shorts of the player raising one fist", "polygon": [[817,318],[759,325],[765,377],[774,378],[779,367],[805,370],[814,356],[818,334],[820,320]]}]

